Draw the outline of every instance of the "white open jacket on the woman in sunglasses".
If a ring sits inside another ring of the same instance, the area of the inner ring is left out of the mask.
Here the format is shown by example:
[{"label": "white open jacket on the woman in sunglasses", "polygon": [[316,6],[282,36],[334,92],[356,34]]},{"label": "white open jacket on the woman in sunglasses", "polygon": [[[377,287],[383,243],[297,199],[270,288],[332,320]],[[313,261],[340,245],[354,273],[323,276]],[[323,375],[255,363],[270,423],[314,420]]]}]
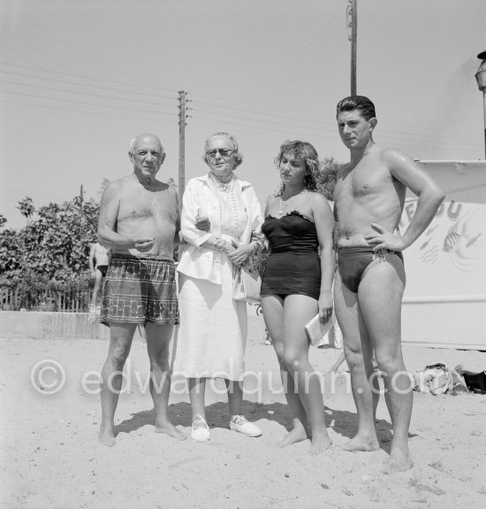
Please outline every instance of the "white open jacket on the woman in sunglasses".
[{"label": "white open jacket on the woman in sunglasses", "polygon": [[[241,201],[245,205],[248,220],[241,235],[240,243],[256,240],[263,243],[262,208],[253,186],[248,181],[234,176],[235,190],[239,189]],[[178,262],[177,270],[196,279],[204,279],[221,284],[221,252],[200,247],[212,235],[221,238],[221,215],[219,200],[209,185],[209,174],[196,177],[187,182],[182,198],[180,231],[186,241],[184,251]],[[198,216],[207,216],[211,223],[211,231],[204,232],[194,227]],[[253,239],[252,239],[253,232]]]}]

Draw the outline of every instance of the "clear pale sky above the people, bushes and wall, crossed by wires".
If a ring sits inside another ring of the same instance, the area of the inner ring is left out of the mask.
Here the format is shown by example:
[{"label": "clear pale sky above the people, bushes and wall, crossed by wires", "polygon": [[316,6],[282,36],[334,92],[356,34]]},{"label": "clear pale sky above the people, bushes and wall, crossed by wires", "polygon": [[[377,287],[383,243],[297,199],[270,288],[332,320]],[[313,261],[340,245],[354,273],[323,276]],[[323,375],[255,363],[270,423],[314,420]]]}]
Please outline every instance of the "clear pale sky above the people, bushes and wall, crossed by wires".
[{"label": "clear pale sky above the people, bushes and wall, crossed by wires", "polygon": [[[0,0],[0,213],[132,171],[151,132],[178,181],[178,90],[189,92],[186,181],[205,139],[236,135],[262,204],[286,139],[345,162],[335,108],[350,93],[347,0]],[[413,158],[484,158],[476,55],[484,0],[358,0],[357,91],[376,103],[376,143]]]}]

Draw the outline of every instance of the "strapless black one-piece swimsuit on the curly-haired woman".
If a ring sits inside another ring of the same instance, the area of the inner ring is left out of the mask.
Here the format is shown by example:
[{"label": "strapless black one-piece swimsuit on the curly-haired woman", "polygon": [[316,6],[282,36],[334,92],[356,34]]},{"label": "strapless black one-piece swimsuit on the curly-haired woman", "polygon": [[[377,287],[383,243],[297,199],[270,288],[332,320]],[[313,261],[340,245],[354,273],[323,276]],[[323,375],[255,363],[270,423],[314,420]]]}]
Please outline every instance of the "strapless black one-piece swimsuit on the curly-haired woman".
[{"label": "strapless black one-piece swimsuit on the curly-haired woman", "polygon": [[270,243],[270,257],[262,276],[262,295],[307,295],[317,300],[321,259],[314,220],[297,211],[281,218],[268,215],[262,232]]}]

